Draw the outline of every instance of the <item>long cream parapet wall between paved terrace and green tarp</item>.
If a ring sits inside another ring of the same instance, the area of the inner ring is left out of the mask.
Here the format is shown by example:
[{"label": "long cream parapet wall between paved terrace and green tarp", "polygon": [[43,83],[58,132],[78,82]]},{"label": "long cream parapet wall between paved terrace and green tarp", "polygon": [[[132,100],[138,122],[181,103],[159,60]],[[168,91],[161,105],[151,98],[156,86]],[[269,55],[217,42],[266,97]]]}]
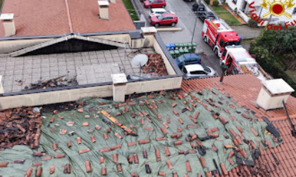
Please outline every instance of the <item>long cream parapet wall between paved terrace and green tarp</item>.
[{"label": "long cream parapet wall between paved terrace and green tarp", "polygon": [[[168,79],[154,79],[149,81],[136,81],[126,84],[126,95],[132,93],[146,93],[168,89],[180,89],[182,77]],[[63,103],[85,97],[111,97],[113,86],[92,86],[82,89],[68,89],[62,91],[49,91],[18,96],[0,96],[0,110],[22,107]]]}]

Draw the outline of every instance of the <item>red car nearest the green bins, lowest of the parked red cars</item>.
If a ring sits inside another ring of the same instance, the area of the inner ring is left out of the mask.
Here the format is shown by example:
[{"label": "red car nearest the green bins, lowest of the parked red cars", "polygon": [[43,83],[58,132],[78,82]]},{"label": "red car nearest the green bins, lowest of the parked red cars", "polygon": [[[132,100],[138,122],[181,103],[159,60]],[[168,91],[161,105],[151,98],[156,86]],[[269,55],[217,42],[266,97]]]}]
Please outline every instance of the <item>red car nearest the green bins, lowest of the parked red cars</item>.
[{"label": "red car nearest the green bins, lowest of the parked red cars", "polygon": [[178,17],[175,13],[163,13],[152,17],[150,23],[155,27],[159,27],[159,25],[172,25],[175,27],[175,24],[178,23]]}]

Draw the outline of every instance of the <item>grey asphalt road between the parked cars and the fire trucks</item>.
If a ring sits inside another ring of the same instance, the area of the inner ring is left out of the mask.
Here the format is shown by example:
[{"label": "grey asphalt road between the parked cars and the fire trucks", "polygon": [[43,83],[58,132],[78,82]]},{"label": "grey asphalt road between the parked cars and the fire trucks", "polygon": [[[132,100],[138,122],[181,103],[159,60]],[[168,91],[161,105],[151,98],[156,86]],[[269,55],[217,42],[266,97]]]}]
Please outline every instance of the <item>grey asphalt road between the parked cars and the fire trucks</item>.
[{"label": "grey asphalt road between the parked cars and the fire trucks", "polygon": [[[140,0],[134,0],[138,6],[138,10],[141,13],[144,13],[147,20],[147,25],[149,25],[149,19],[147,15],[149,9],[144,8],[144,4]],[[159,32],[161,39],[164,41],[164,44],[170,43],[181,43],[181,42],[196,42],[197,50],[195,53],[198,53],[202,57],[202,65],[206,65],[214,68],[217,75],[220,76],[222,73],[221,66],[219,63],[218,57],[214,54],[208,44],[204,43],[202,39],[202,27],[203,22],[199,20],[195,13],[191,10],[193,2],[185,2],[183,0],[166,0],[166,9],[173,11],[178,16],[178,24],[176,27],[181,27],[180,31],[164,31]],[[196,22],[196,27],[195,27]],[[195,27],[195,34],[193,35]],[[193,36],[193,40],[192,40]]]}]

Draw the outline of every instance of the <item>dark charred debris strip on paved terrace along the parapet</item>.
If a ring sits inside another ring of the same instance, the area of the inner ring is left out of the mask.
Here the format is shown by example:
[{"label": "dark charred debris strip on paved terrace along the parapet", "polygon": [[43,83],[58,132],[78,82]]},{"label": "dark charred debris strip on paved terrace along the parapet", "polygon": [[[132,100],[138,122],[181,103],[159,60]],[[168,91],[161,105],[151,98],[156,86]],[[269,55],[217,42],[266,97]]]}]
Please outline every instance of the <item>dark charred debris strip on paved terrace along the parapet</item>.
[{"label": "dark charred debris strip on paved terrace along the parapet", "polygon": [[[23,84],[23,81],[18,81],[18,84]],[[49,89],[54,87],[62,87],[69,85],[77,85],[76,79],[67,79],[65,76],[56,77],[54,79],[45,80],[40,78],[37,83],[32,83],[30,86],[25,86],[23,91],[30,91],[35,89]]]}]

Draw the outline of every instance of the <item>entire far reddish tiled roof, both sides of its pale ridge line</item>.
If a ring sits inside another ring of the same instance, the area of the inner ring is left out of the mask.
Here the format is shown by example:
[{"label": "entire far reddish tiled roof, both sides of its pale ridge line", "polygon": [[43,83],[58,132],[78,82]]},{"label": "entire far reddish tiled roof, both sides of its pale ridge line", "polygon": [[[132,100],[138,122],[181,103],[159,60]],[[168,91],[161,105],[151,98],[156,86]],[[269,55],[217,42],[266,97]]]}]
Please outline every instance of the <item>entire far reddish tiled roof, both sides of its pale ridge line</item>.
[{"label": "entire far reddish tiled roof, both sides of its pale ridge line", "polygon": [[[14,13],[16,37],[66,34],[67,32],[113,32],[135,29],[123,1],[109,5],[109,20],[99,19],[95,0],[9,0],[1,13]],[[0,22],[0,37],[4,27]]]}]

